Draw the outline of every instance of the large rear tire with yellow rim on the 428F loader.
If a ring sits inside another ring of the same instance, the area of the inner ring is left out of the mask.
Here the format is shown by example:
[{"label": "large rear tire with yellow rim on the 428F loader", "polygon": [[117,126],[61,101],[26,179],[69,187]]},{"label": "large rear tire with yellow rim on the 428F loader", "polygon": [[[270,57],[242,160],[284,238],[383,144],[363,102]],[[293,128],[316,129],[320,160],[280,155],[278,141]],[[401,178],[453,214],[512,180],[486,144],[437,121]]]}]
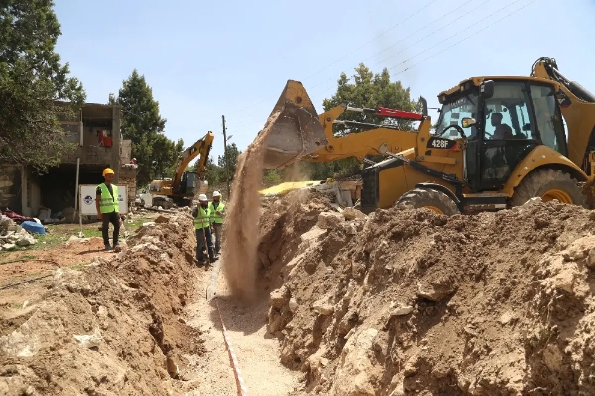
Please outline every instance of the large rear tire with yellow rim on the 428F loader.
[{"label": "large rear tire with yellow rim on the 428F loader", "polygon": [[543,202],[557,199],[561,203],[587,208],[587,197],[578,180],[559,169],[537,169],[521,181],[512,196],[512,206],[520,206],[533,197]]}]

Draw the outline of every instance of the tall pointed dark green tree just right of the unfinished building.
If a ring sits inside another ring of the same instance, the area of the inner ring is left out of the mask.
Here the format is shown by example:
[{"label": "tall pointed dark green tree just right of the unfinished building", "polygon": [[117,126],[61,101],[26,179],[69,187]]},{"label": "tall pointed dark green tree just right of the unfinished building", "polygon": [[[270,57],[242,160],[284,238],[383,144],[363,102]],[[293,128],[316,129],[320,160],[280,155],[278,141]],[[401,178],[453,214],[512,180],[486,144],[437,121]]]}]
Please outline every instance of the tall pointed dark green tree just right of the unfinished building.
[{"label": "tall pointed dark green tree just right of the unfinished building", "polygon": [[159,102],[153,90],[136,69],[123,81],[118,96],[109,94],[109,103],[123,107],[122,139],[131,140],[131,156],[139,165],[137,184],[143,186],[156,178],[172,177],[177,158],[184,150],[178,142],[164,135],[165,118],[159,115]]}]

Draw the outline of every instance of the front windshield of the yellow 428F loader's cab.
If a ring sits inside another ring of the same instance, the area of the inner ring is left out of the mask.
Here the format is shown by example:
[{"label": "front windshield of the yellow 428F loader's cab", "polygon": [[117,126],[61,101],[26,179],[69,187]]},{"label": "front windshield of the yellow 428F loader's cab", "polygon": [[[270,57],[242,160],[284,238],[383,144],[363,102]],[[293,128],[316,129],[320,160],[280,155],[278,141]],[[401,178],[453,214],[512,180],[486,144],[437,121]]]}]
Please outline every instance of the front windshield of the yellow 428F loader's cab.
[{"label": "front windshield of the yellow 428F loader's cab", "polygon": [[[456,96],[450,102],[443,103],[440,118],[436,126],[436,133],[440,134],[449,127],[449,125],[459,125],[462,127],[461,120],[465,117],[471,117],[477,120],[478,93],[467,93],[464,96]],[[478,120],[477,120],[478,121]],[[477,129],[475,126],[463,130],[466,137],[476,137]],[[461,137],[455,128],[450,128],[442,137]]]}]

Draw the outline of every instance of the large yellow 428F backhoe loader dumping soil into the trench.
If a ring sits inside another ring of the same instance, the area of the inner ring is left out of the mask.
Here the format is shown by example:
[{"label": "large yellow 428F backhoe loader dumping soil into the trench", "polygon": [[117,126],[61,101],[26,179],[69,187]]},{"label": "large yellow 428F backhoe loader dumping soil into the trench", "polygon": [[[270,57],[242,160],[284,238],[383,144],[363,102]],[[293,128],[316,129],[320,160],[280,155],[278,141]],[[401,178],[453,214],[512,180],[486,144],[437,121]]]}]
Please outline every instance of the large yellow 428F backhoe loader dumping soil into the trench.
[{"label": "large yellow 428F backhoe loader dumping soil into the trench", "polygon": [[[318,117],[302,84],[289,80],[273,110],[284,122],[270,125],[264,166],[383,154],[362,171],[364,212],[405,205],[477,213],[532,197],[594,208],[595,95],[563,76],[555,59],[538,59],[530,77],[468,78],[438,99],[431,133],[425,104],[422,114],[340,105]],[[420,122],[417,131],[368,124],[333,136],[346,110]]]}]

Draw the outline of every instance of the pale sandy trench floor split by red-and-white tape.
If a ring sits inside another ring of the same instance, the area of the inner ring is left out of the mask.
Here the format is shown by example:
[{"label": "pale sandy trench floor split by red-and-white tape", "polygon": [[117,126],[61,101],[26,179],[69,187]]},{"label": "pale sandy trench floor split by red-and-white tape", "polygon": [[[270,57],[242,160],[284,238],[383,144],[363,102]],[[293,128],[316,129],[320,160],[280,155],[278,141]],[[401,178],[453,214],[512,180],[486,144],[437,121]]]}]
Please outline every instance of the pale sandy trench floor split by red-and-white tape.
[{"label": "pale sandy trench floor split by red-and-white tape", "polygon": [[[202,356],[190,356],[190,367],[184,373],[187,396],[236,395],[236,384],[221,332],[221,322],[214,301],[206,301],[205,289],[210,271],[203,272],[196,286],[196,302],[188,307],[190,326],[201,329]],[[279,360],[279,343],[267,334],[267,301],[243,304],[228,296],[223,274],[218,280],[217,303],[227,327],[228,336],[237,355],[242,376],[250,396],[283,396],[299,387],[299,372],[292,372]]]}]

